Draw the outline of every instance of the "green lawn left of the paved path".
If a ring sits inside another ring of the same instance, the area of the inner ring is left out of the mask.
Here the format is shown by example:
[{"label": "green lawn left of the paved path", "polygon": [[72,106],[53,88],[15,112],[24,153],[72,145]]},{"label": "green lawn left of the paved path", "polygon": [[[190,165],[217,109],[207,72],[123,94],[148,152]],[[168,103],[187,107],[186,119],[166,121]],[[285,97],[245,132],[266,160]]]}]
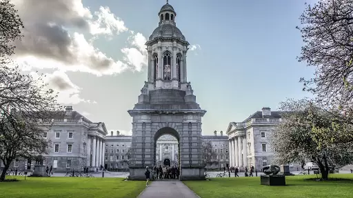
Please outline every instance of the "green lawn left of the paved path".
[{"label": "green lawn left of the paved path", "polygon": [[[6,177],[8,179],[13,177]],[[0,197],[137,197],[145,181],[123,178],[16,177],[21,181],[0,182]]]}]

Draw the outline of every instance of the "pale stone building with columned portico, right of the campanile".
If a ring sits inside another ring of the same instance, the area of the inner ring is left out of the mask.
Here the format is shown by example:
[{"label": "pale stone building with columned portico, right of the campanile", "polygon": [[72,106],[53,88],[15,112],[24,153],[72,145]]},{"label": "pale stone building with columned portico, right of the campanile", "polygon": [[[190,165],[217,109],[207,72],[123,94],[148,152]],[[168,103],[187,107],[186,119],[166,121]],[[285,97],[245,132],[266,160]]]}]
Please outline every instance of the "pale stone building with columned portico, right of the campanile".
[{"label": "pale stone building with columned portico, right of the campanile", "polygon": [[242,122],[231,122],[228,126],[230,166],[254,166],[261,170],[271,163],[274,151],[271,150],[269,137],[277,123],[281,121],[281,112],[262,108]]}]

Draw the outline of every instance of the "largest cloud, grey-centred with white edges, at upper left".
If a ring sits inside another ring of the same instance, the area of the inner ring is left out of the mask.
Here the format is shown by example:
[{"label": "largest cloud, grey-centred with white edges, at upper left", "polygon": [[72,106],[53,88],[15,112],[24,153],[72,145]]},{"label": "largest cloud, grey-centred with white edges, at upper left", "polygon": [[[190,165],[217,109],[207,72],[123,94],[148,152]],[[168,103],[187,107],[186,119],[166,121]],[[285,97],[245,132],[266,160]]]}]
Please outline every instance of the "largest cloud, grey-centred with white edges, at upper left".
[{"label": "largest cloud, grey-centred with white edges, at upper left", "polygon": [[[25,70],[59,68],[99,76],[128,69],[126,63],[107,57],[92,45],[99,35],[128,31],[108,7],[100,7],[92,14],[81,0],[14,0],[14,3],[25,26],[23,39],[15,43],[15,59]],[[85,32],[90,32],[92,38],[86,39]]]}]

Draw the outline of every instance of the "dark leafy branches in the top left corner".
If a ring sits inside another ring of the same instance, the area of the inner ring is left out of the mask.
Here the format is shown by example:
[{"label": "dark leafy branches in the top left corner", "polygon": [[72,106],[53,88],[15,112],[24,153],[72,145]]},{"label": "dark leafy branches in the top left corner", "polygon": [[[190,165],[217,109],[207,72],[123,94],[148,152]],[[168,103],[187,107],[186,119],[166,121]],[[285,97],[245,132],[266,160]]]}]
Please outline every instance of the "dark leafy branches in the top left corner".
[{"label": "dark leafy branches in the top left corner", "polygon": [[23,23],[10,0],[0,0],[0,57],[12,55],[12,42],[21,38]]}]

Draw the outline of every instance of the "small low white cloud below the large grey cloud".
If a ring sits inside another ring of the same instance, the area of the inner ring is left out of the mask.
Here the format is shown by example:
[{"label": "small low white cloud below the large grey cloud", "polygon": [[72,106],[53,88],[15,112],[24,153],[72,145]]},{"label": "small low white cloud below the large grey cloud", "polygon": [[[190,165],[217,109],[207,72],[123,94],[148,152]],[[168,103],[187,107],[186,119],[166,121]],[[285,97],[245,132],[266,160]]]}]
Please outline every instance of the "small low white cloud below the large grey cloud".
[{"label": "small low white cloud below the large grey cloud", "polygon": [[[31,72],[30,75],[34,79],[38,79],[37,72]],[[65,72],[55,71],[52,74],[43,76],[43,83],[48,83],[47,88],[52,88],[54,91],[59,92],[57,101],[61,104],[77,104],[77,103],[97,103],[88,99],[80,97],[81,88],[70,81]]]}]

